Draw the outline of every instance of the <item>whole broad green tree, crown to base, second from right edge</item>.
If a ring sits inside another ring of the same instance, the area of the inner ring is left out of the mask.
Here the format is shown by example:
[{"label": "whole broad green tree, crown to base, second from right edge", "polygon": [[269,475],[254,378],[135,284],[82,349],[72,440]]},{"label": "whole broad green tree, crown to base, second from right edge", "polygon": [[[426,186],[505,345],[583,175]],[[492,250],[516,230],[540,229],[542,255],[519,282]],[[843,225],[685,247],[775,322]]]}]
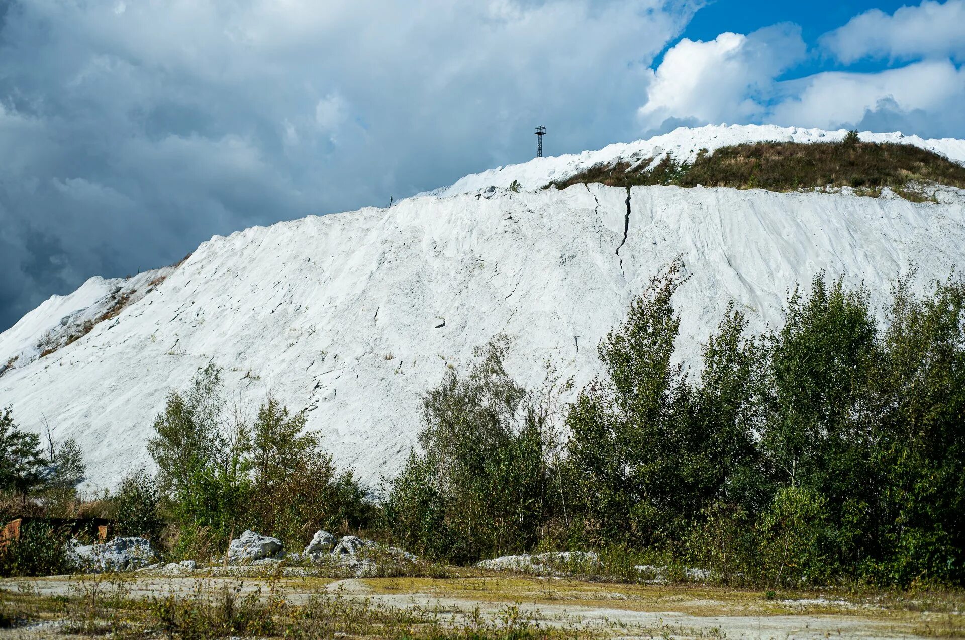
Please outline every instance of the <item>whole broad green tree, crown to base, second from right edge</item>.
[{"label": "whole broad green tree, crown to base, second from right edge", "polygon": [[882,521],[883,437],[878,390],[883,350],[864,287],[823,273],[808,296],[795,290],[784,326],[769,339],[761,447],[779,486],[825,499],[836,532],[828,562],[854,567],[874,552]]}]

